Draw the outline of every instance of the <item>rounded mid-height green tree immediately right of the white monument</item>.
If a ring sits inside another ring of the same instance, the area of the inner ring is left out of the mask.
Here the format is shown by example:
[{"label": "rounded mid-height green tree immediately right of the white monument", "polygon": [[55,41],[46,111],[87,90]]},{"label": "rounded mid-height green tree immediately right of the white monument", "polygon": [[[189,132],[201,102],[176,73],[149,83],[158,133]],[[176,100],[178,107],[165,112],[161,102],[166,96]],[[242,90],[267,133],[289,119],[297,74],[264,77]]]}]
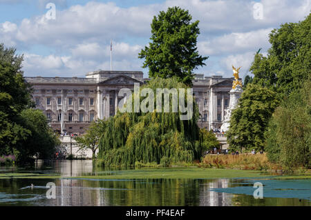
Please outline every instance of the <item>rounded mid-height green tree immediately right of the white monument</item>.
[{"label": "rounded mid-height green tree immediately right of the white monument", "polygon": [[264,132],[279,101],[276,93],[267,88],[249,84],[233,110],[227,140],[232,150],[265,147]]}]

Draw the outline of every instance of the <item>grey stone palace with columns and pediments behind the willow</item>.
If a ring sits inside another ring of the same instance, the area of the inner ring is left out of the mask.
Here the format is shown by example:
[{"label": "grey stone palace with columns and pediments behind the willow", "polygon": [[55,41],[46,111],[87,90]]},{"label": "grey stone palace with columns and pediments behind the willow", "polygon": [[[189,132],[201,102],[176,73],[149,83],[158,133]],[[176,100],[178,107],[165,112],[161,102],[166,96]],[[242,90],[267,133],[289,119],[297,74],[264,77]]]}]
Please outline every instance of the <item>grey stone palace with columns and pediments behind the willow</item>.
[{"label": "grey stone palace with columns and pediments behind the willow", "polygon": [[[140,71],[88,72],[86,77],[24,77],[33,88],[36,108],[43,110],[53,130],[83,134],[91,121],[116,114],[119,90],[133,90],[144,79]],[[229,108],[234,78],[196,74],[193,91],[200,111],[200,128],[220,128]]]}]

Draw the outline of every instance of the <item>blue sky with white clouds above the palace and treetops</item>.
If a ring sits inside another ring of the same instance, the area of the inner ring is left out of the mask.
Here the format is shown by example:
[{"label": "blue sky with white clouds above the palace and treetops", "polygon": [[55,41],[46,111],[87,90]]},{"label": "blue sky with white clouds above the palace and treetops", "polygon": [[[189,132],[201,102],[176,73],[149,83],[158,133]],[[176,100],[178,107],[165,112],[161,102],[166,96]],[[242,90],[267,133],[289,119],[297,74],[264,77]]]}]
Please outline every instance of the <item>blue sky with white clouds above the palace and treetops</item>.
[{"label": "blue sky with white clouds above the palace and treetops", "polygon": [[[48,3],[55,4],[55,17]],[[0,43],[24,54],[26,76],[84,77],[93,70],[140,70],[138,52],[149,43],[154,15],[169,6],[199,20],[198,50],[209,56],[196,73],[232,76],[249,69],[254,53],[270,48],[268,34],[281,23],[303,20],[311,0],[0,0]],[[262,10],[261,10],[262,6]]]}]

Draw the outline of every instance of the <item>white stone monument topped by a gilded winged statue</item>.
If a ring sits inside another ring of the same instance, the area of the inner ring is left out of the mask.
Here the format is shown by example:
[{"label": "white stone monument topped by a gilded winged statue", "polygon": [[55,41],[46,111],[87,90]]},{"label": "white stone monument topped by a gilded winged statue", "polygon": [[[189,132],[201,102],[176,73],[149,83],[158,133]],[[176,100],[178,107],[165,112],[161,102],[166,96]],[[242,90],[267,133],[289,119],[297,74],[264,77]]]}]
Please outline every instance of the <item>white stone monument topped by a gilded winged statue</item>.
[{"label": "white stone monument topped by a gilded winged statue", "polygon": [[229,92],[229,94],[230,94],[229,108],[225,111],[225,120],[223,122],[223,125],[220,127],[220,132],[227,132],[229,130],[229,126],[230,126],[229,121],[230,121],[230,117],[232,114],[232,110],[234,110],[234,108],[236,108],[236,106],[238,104],[238,99],[240,99],[241,94],[243,92],[242,82],[238,78],[238,70],[240,70],[240,68],[241,67],[236,69],[236,68],[234,68],[234,66],[232,66],[235,80],[232,83],[232,90],[230,90],[230,92]]}]

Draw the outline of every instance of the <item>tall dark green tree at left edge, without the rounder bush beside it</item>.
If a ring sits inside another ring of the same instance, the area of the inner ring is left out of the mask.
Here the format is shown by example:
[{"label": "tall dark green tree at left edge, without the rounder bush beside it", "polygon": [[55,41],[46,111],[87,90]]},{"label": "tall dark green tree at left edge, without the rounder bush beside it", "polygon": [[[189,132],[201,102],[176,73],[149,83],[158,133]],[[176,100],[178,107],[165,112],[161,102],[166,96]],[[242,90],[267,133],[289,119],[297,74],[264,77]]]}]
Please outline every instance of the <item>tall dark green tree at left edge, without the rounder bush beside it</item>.
[{"label": "tall dark green tree at left edge, without the rounder bush beside it", "polygon": [[19,124],[19,114],[33,106],[31,88],[23,80],[23,56],[15,51],[0,43],[0,154],[12,154],[16,144],[29,135]]}]

